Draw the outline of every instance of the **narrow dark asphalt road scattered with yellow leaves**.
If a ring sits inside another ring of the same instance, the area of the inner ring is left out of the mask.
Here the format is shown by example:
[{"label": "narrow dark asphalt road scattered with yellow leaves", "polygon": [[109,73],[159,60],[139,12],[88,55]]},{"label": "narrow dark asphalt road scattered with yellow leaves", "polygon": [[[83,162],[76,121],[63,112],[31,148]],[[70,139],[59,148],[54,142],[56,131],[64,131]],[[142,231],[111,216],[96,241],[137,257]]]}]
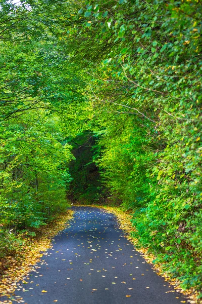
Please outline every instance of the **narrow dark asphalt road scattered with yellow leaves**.
[{"label": "narrow dark asphalt road scattered with yellow leaves", "polygon": [[[117,227],[113,214],[74,207],[70,227],[57,235],[19,283],[27,304],[179,304],[187,302],[159,277]],[[176,298],[178,297],[178,298]]]}]

